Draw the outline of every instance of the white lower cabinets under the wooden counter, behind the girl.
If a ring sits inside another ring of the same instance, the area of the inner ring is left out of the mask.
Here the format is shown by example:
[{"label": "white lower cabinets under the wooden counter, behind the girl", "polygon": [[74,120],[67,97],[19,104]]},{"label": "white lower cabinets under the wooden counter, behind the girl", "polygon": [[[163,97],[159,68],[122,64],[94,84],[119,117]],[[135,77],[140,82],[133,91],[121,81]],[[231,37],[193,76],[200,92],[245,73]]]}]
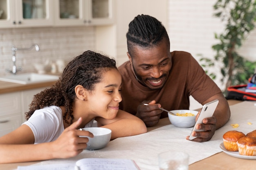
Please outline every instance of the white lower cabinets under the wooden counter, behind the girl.
[{"label": "white lower cabinets under the wooden counter, behind the girl", "polygon": [[0,136],[17,129],[25,119],[33,96],[44,88],[0,94]]}]

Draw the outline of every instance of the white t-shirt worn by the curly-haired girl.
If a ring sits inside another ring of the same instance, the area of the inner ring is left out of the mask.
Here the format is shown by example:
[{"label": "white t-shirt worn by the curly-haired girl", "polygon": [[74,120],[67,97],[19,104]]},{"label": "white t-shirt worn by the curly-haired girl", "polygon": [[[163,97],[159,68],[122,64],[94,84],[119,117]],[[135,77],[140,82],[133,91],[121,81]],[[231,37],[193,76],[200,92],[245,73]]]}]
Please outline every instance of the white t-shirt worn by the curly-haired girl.
[{"label": "white t-shirt worn by the curly-haired girl", "polygon": [[[85,127],[92,127],[91,120]],[[52,142],[64,131],[63,115],[60,107],[49,106],[36,110],[29,120],[24,122],[35,136],[35,144]]]}]

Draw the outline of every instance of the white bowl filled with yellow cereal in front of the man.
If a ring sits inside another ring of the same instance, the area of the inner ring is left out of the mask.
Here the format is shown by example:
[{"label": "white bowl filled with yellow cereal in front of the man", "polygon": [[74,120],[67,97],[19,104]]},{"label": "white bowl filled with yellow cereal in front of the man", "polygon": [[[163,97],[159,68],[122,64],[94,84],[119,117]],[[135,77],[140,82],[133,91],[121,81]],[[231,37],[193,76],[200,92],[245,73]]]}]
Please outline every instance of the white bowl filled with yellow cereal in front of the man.
[{"label": "white bowl filled with yellow cereal in front of the man", "polygon": [[192,113],[195,116],[174,116],[168,113],[168,118],[171,122],[176,127],[180,128],[189,128],[195,125],[195,117],[198,114],[198,111],[194,110],[172,110],[171,112],[177,114],[177,113]]}]

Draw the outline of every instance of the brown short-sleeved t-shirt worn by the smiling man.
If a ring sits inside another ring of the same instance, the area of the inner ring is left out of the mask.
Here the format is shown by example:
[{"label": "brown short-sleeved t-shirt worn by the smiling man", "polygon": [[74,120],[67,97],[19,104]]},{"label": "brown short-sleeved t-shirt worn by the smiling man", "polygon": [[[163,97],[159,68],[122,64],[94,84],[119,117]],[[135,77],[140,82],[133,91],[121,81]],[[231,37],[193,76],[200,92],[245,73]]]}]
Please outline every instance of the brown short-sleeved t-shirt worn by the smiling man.
[{"label": "brown short-sleeved t-shirt worn by the smiling man", "polygon": [[[220,88],[207,76],[202,67],[188,52],[171,52],[172,67],[162,89],[151,90],[135,78],[130,61],[119,66],[122,75],[119,108],[133,115],[144,100],[156,100],[166,110],[189,109],[189,96],[202,103],[211,96],[221,93]],[[161,118],[167,117],[162,112]]]}]

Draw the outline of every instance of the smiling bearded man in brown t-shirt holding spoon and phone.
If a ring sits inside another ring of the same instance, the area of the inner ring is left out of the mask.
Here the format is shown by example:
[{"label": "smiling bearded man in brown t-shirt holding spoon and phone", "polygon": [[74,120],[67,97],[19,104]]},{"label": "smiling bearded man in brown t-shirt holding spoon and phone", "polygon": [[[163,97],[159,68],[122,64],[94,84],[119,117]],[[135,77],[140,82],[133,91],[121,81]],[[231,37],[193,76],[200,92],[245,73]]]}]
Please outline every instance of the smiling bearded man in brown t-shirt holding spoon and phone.
[{"label": "smiling bearded man in brown t-shirt holding spoon and phone", "polygon": [[198,62],[187,52],[170,52],[166,29],[149,15],[135,17],[126,38],[129,61],[119,67],[123,78],[119,108],[141,118],[150,127],[167,117],[160,107],[189,109],[190,95],[202,105],[218,99],[213,117],[197,125],[197,129],[205,131],[193,132],[197,137],[193,141],[211,139],[215,130],[229,120],[230,110],[221,90]]}]

